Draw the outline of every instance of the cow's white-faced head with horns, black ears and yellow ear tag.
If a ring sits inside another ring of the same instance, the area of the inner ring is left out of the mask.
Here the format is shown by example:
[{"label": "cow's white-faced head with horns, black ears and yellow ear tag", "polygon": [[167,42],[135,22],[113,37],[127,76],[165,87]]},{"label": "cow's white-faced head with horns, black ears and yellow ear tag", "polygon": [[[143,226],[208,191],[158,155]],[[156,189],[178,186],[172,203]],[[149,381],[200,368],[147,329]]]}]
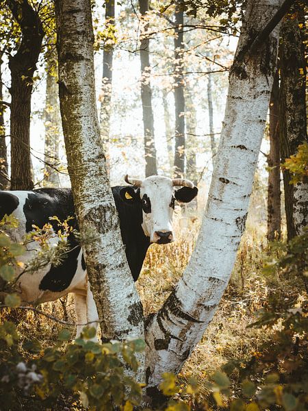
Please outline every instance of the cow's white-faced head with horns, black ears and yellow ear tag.
[{"label": "cow's white-faced head with horns, black ears and yellow ear tag", "polygon": [[189,203],[196,197],[198,188],[187,179],[170,179],[160,175],[152,175],[144,180],[130,179],[126,175],[125,182],[131,186],[122,188],[121,197],[127,203],[141,202],[144,234],[150,237],[151,242],[172,242],[175,201]]}]

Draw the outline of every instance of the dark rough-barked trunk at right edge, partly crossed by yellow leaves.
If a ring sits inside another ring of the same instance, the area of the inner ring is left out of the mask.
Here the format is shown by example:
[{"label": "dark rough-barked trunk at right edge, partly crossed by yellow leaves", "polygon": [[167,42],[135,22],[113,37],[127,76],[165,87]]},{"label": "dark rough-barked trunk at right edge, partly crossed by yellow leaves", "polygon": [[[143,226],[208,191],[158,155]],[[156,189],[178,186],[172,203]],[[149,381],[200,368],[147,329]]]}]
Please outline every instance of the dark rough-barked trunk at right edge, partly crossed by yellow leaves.
[{"label": "dark rough-barked trunk at right edge, partly crossed by yellow leaves", "polygon": [[[279,131],[282,161],[296,154],[298,145],[307,141],[305,57],[296,16],[298,11],[292,9],[293,14],[287,14],[281,26]],[[308,186],[307,182],[292,186],[290,173],[286,170],[283,171],[283,183],[287,239],[290,240],[296,234],[301,234],[307,225]]]}]

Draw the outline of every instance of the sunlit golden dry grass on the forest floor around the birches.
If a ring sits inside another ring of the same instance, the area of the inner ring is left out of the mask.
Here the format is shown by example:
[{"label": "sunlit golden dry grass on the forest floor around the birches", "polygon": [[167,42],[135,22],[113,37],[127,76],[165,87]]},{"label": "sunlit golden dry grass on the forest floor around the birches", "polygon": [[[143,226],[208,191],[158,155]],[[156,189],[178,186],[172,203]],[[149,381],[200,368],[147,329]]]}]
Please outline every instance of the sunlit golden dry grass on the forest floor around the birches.
[{"label": "sunlit golden dry grass on the forest floor around the birches", "polygon": [[[146,315],[156,312],[162,306],[181,277],[194,248],[199,224],[196,217],[178,219],[178,240],[170,245],[150,247],[137,283]],[[248,327],[255,321],[256,312],[266,306],[270,290],[274,290],[281,301],[290,298],[292,294],[298,295],[298,284],[292,282],[292,279],[269,278],[264,275],[264,263],[270,258],[272,256],[266,245],[264,227],[249,227],[248,224],[229,286],[205,336],[180,374],[183,386],[188,377],[196,377],[201,388],[198,397],[201,402],[209,396],[207,382],[213,371],[219,370],[231,358],[247,360],[253,353],[257,353],[261,343],[270,340],[270,332],[266,329]],[[65,321],[75,321],[72,296],[55,303],[45,303],[41,309]],[[16,314],[16,320],[19,321],[18,331],[23,338],[37,338],[43,348],[53,345],[58,332],[63,328],[63,325],[36,312]],[[71,327],[73,332],[74,328]],[[188,398],[188,401],[194,408],[192,400]],[[59,406],[53,410],[81,410],[78,402],[64,396],[59,400]],[[30,408],[40,409],[33,403]],[[21,409],[30,408],[23,406]]]}]

